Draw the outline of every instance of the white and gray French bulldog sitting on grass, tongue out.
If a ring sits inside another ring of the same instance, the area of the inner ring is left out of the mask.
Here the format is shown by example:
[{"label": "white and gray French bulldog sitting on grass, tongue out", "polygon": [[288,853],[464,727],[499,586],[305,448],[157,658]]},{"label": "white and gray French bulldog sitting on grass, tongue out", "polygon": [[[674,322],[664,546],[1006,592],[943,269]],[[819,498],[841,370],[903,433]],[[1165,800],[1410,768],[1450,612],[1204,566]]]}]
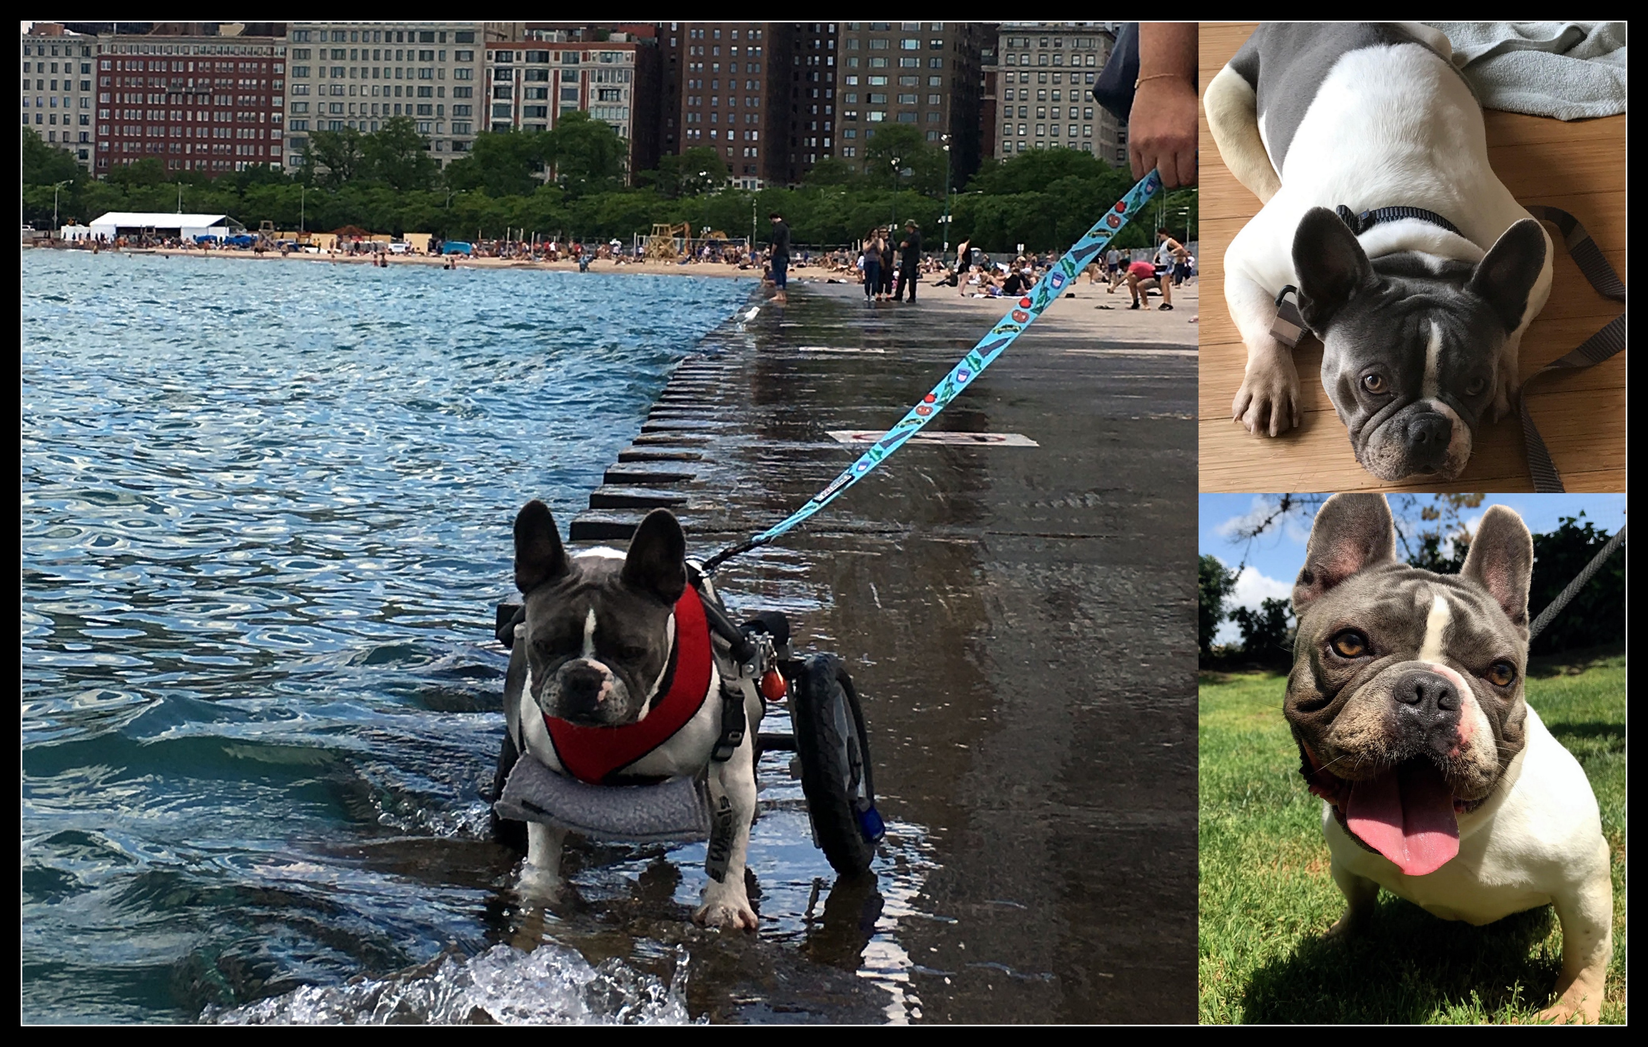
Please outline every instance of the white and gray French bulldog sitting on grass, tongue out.
[{"label": "white and gray French bulldog sitting on grass, tongue out", "polygon": [[1486,511],[1457,575],[1396,559],[1381,495],[1317,513],[1294,585],[1284,712],[1323,800],[1355,932],[1384,887],[1444,920],[1556,905],[1557,1001],[1595,1022],[1613,951],[1608,844],[1590,782],[1523,696],[1533,539]]}]

